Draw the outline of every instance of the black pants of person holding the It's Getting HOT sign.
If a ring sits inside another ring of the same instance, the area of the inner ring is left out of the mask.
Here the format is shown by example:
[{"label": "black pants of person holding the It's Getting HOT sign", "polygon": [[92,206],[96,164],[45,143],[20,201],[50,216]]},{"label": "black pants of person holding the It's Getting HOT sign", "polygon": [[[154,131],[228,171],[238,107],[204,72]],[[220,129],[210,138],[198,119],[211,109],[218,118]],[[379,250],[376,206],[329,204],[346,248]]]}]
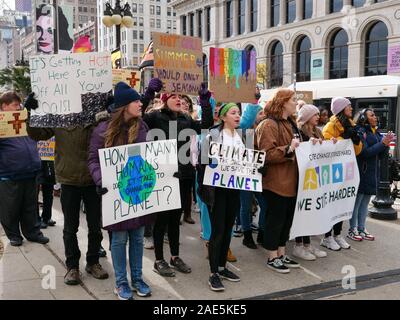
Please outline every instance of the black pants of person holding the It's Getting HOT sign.
[{"label": "black pants of person holding the It's Getting HOT sign", "polygon": [[88,251],[86,262],[93,265],[99,262],[99,249],[103,235],[101,233],[100,197],[95,186],[77,187],[61,185],[61,206],[64,214],[64,247],[67,269],[79,268],[81,252],[78,246],[81,201],[86,208],[88,225]]}]

